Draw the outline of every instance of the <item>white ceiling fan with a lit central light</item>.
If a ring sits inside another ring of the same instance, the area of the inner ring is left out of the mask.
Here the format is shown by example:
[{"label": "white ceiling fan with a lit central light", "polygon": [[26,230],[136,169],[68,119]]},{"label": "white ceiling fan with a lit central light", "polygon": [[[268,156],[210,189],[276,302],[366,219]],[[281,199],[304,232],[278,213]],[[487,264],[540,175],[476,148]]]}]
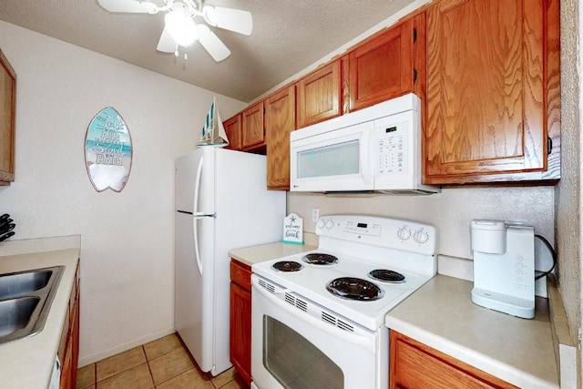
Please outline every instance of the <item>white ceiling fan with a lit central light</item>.
[{"label": "white ceiling fan with a lit central light", "polygon": [[[207,50],[212,58],[220,62],[230,56],[230,50],[209,26],[195,23],[195,17],[202,17],[210,26],[224,28],[246,36],[251,35],[253,19],[249,11],[216,5],[202,5],[203,0],[163,0],[159,6],[141,0],[97,0],[109,12],[125,12],[155,15],[160,11],[164,16],[164,29],[156,49],[163,53],[179,55],[179,47],[188,47],[195,41]],[[185,53],[184,58],[188,56]]]}]

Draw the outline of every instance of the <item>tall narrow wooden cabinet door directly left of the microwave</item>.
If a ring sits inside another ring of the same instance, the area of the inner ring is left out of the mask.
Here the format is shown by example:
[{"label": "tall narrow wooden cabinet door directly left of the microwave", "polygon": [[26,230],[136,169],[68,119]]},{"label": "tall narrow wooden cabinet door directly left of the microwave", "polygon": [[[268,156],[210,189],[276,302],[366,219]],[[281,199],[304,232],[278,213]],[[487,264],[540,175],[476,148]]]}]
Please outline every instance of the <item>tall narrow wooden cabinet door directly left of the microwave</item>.
[{"label": "tall narrow wooden cabinet door directly left of the microwave", "polygon": [[267,188],[290,189],[290,133],[295,129],[293,86],[265,102],[267,129]]}]

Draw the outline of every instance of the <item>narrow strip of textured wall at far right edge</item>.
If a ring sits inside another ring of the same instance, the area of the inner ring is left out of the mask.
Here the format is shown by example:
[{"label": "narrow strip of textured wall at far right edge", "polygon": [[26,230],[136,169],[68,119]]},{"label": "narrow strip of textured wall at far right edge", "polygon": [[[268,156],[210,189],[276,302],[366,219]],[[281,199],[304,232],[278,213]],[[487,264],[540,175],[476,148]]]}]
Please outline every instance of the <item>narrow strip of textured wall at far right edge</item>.
[{"label": "narrow strip of textured wall at far right edge", "polygon": [[569,329],[578,342],[578,387],[583,384],[583,241],[581,230],[581,150],[583,149],[583,7],[561,0],[561,175],[557,185],[557,253],[559,291]]}]

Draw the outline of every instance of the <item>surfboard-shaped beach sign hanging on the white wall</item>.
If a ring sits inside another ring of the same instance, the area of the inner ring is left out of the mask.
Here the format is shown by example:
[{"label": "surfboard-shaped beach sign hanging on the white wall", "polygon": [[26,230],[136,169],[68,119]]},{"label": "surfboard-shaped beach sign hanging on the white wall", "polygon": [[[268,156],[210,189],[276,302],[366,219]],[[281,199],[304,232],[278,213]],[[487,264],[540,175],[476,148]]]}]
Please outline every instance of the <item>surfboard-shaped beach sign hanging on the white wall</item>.
[{"label": "surfboard-shaped beach sign hanging on the white wall", "polygon": [[85,136],[85,164],[98,191],[120,192],[131,170],[131,137],[126,122],[112,107],[103,108],[89,123]]}]

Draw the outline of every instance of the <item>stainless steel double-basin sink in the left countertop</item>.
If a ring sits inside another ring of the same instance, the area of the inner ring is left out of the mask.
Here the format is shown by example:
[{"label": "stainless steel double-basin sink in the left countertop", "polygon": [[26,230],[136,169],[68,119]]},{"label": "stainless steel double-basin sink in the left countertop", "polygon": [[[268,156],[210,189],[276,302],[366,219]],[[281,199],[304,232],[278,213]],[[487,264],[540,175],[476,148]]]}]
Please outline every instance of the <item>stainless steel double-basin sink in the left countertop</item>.
[{"label": "stainless steel double-basin sink in the left countertop", "polygon": [[0,274],[0,344],[42,331],[64,268]]}]

